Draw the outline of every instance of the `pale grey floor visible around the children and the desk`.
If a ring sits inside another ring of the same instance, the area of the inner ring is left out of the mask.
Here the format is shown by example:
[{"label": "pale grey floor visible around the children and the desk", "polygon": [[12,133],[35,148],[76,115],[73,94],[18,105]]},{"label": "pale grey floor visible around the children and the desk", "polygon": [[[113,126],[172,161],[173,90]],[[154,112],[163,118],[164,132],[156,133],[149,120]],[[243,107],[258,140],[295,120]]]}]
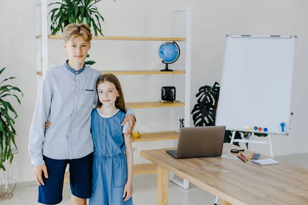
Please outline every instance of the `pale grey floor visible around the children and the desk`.
[{"label": "pale grey floor visible around the children and the desk", "polygon": [[[300,155],[288,155],[275,157],[276,160],[286,161],[294,165],[308,169],[308,153]],[[133,204],[134,205],[156,205],[157,204],[157,175],[139,175],[133,177]],[[192,185],[188,190],[169,182],[169,204],[174,205],[213,205],[215,196]],[[37,186],[34,182],[18,184],[13,198],[0,201],[1,205],[33,205],[37,204]],[[64,185],[63,205],[70,203],[70,187]],[[218,203],[220,204],[220,203]]]}]

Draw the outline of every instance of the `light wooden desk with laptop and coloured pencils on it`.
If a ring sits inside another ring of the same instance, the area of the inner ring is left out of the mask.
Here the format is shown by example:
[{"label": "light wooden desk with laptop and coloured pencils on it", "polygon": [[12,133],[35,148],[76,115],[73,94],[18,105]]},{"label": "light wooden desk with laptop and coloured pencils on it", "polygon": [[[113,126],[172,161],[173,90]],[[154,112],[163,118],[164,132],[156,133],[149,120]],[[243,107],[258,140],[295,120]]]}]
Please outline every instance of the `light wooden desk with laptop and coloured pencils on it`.
[{"label": "light wooden desk with laptop and coloured pencils on it", "polygon": [[[224,144],[223,154],[238,148]],[[250,160],[244,163],[221,157],[175,159],[166,150],[170,149],[140,151],[142,157],[158,165],[159,205],[168,204],[168,171],[218,196],[222,205],[308,204],[307,169],[281,161],[278,165],[260,166]],[[247,150],[244,154],[247,155]],[[269,157],[261,154],[260,159],[264,158]],[[206,163],[218,163],[232,173],[201,171],[201,166],[210,167]]]}]

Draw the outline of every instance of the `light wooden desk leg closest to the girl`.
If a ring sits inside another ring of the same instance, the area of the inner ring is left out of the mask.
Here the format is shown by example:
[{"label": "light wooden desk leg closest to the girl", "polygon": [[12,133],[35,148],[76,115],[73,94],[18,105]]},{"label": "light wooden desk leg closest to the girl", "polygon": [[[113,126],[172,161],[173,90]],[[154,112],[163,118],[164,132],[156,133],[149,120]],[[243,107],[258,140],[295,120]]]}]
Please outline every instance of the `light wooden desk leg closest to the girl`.
[{"label": "light wooden desk leg closest to the girl", "polygon": [[168,205],[168,170],[157,166],[157,204]]}]

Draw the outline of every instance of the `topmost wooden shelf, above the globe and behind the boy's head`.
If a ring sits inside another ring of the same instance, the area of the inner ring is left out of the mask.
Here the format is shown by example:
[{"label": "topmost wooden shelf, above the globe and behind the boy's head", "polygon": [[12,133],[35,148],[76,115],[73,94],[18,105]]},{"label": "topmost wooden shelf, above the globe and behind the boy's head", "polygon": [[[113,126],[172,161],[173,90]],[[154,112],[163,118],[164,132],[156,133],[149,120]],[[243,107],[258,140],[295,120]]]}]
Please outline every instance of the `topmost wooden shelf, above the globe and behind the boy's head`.
[{"label": "topmost wooden shelf, above the globe and behind the boy's head", "polygon": [[[37,35],[36,39],[42,38],[42,35]],[[63,39],[62,35],[48,35],[49,39]],[[183,42],[186,38],[168,38],[168,37],[132,37],[132,36],[93,36],[92,39],[97,40],[159,40],[159,41],[172,41]]]}]

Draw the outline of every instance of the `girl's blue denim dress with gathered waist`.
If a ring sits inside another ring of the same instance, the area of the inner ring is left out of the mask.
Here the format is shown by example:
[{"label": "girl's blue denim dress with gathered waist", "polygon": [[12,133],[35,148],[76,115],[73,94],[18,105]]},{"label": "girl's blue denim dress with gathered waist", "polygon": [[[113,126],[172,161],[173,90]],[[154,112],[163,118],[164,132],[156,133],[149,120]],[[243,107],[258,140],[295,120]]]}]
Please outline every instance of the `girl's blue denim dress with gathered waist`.
[{"label": "girl's blue denim dress with gathered waist", "polygon": [[120,110],[111,117],[102,117],[97,109],[91,113],[94,158],[90,205],[132,204],[132,198],[123,201],[127,160],[121,123],[125,116]]}]

